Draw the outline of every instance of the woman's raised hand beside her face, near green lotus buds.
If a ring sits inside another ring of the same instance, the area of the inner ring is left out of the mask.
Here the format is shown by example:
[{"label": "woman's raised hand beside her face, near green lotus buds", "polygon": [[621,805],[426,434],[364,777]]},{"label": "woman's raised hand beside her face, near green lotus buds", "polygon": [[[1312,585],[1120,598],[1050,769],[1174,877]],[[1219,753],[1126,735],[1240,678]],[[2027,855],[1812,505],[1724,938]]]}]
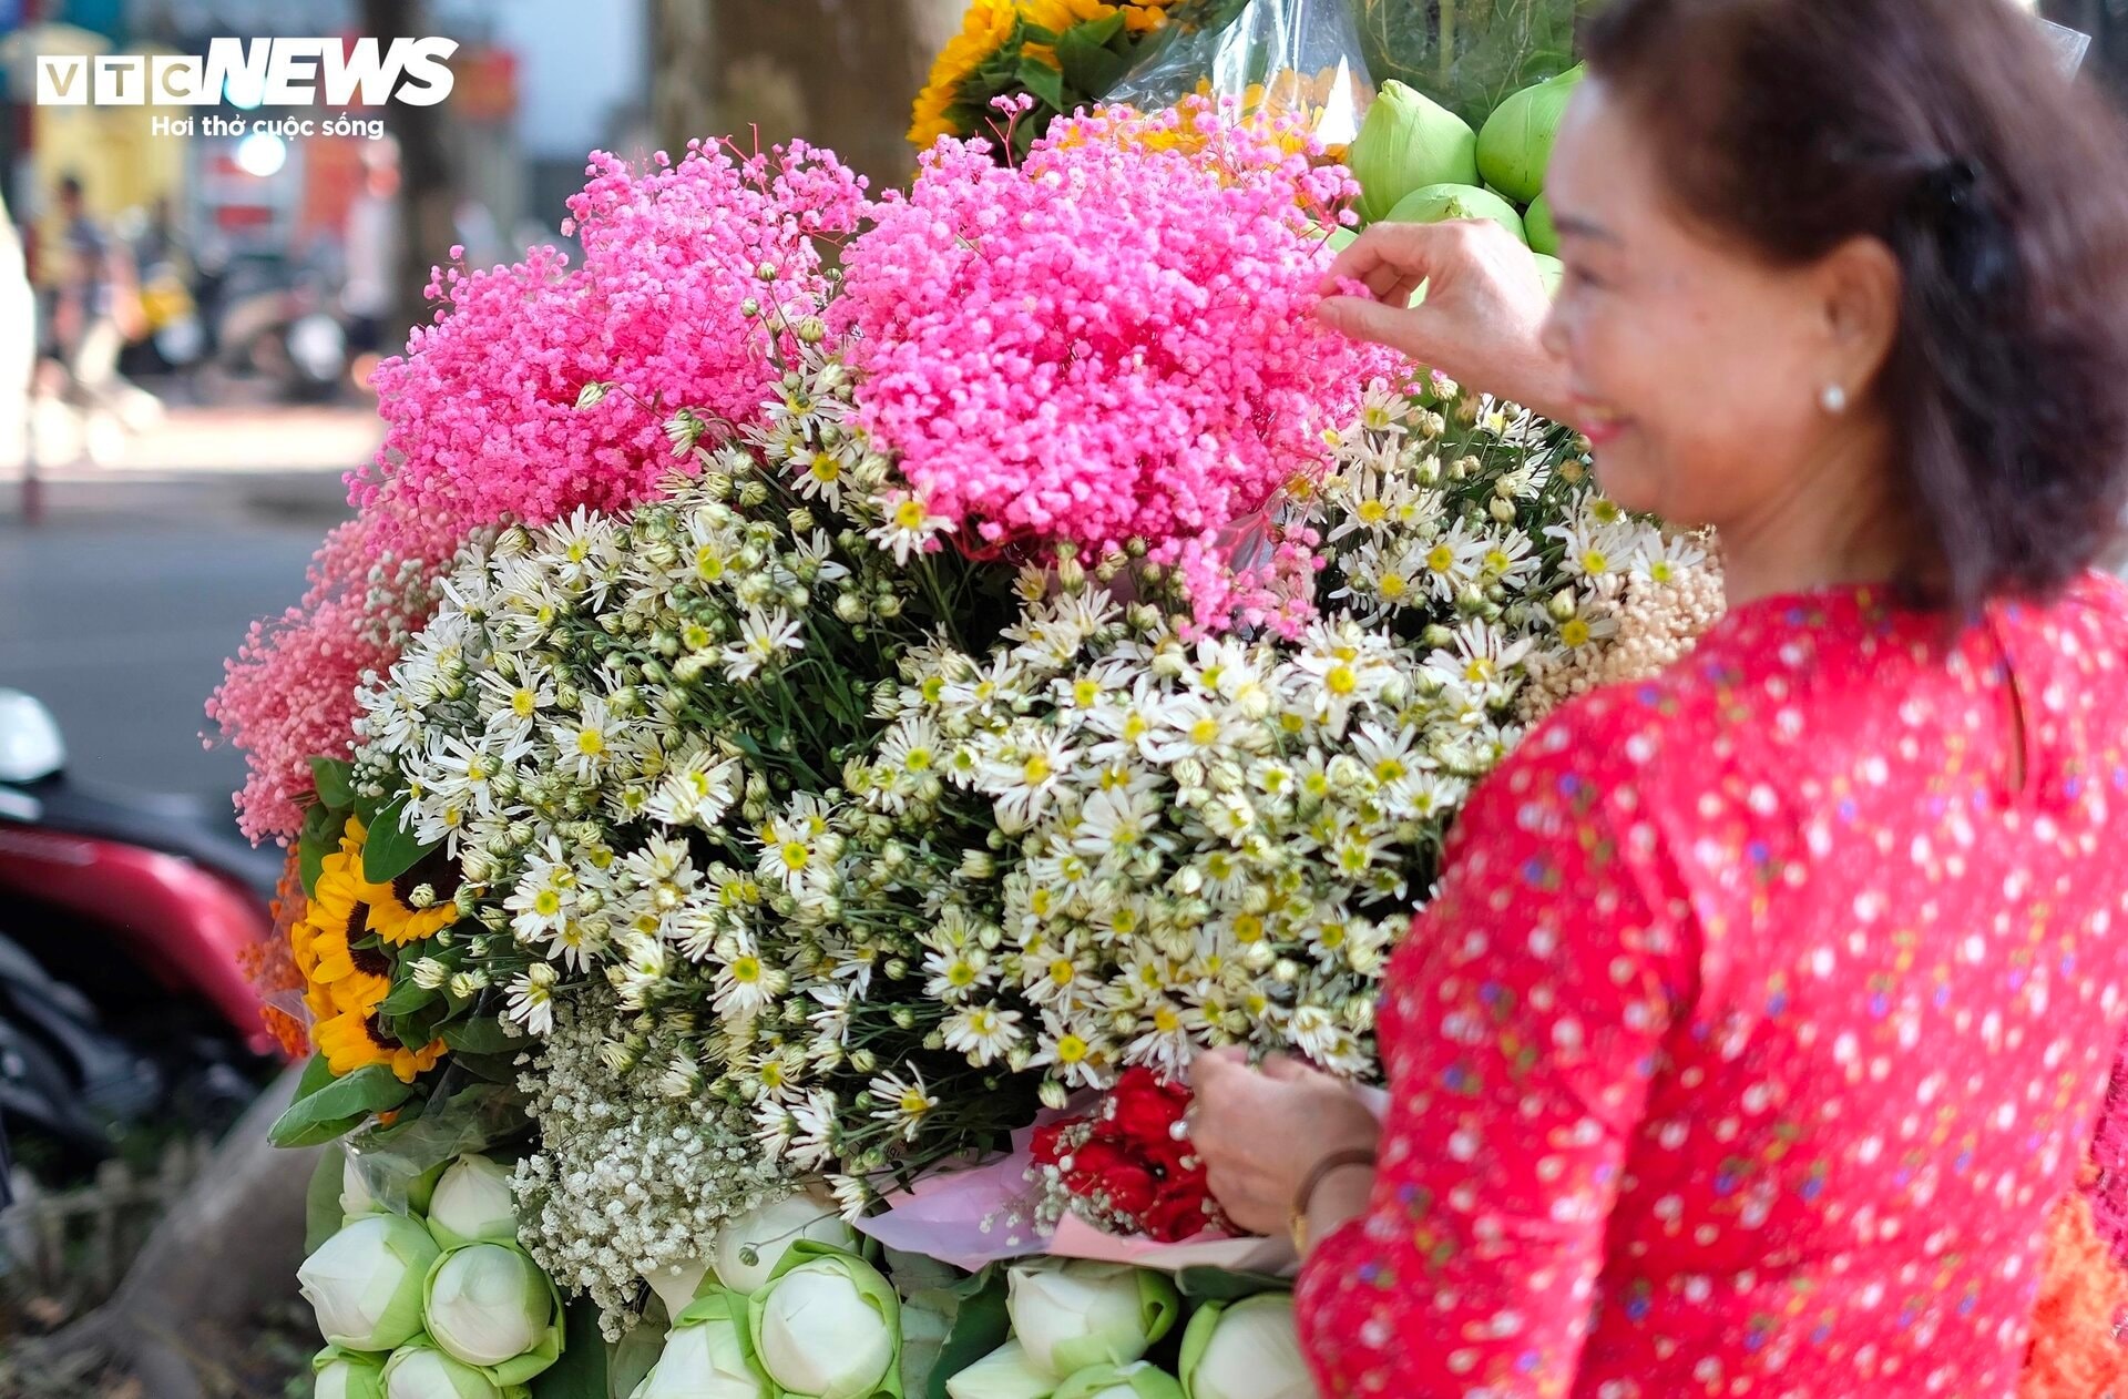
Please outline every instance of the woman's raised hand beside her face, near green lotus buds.
[{"label": "woman's raised hand beside her face, near green lotus buds", "polygon": [[[1360,281],[1375,300],[1336,296]],[[1411,298],[1426,287],[1426,300]],[[1551,296],[1515,234],[1492,219],[1375,224],[1324,275],[1317,315],[1398,349],[1473,390],[1547,417],[1568,409],[1566,375],[1543,347]]]}]

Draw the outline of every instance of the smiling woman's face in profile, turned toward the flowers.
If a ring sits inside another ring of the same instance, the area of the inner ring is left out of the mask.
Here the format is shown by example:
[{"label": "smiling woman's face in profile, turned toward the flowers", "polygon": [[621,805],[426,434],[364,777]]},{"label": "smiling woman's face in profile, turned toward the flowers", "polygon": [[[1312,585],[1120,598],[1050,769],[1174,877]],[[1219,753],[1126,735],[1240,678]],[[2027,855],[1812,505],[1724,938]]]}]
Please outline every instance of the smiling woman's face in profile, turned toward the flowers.
[{"label": "smiling woman's face in profile, turned toward the flowers", "polygon": [[1568,106],[1545,190],[1566,262],[1545,345],[1568,364],[1605,492],[1690,526],[1779,511],[1832,430],[1841,353],[1822,273],[1685,221],[1598,79]]}]

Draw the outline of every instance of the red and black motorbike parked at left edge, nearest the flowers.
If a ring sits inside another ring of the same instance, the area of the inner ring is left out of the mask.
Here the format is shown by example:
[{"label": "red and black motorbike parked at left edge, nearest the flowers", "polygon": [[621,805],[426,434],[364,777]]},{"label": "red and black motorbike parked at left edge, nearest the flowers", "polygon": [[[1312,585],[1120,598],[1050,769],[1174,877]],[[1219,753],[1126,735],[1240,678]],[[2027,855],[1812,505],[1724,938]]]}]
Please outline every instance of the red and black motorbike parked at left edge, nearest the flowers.
[{"label": "red and black motorbike parked at left edge, nearest the flowers", "polygon": [[[209,803],[98,788],[32,696],[0,690],[0,1122],[72,1175],[140,1124],[219,1131],[281,1048],[247,948],[281,854]],[[0,1148],[4,1152],[4,1148]]]}]

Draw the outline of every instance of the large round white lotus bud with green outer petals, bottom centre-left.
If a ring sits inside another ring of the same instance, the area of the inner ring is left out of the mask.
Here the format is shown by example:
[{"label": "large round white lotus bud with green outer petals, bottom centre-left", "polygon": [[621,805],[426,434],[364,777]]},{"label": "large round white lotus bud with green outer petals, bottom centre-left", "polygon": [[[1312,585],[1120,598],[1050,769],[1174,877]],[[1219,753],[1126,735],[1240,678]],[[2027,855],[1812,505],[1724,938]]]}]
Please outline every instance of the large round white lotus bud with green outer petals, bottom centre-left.
[{"label": "large round white lotus bud with green outer petals, bottom centre-left", "polygon": [[894,1286],[855,1254],[804,1244],[747,1303],[753,1352],[785,1395],[870,1399],[902,1350]]}]

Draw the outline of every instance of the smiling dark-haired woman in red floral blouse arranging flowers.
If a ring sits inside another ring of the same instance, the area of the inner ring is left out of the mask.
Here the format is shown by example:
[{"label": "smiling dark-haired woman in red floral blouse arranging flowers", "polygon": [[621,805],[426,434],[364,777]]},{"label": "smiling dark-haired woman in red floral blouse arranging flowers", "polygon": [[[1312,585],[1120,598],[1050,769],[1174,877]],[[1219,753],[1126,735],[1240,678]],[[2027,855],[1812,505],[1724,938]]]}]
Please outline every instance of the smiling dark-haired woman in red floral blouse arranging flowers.
[{"label": "smiling dark-haired woman in red floral blouse arranging flowers", "polygon": [[1324,315],[1715,526],[1730,615],[1473,794],[1385,1120],[1213,1054],[1192,1133],[1328,1395],[2009,1395],[2128,1014],[2128,136],[2002,0],[1587,51],[1558,302],[1377,228]]}]

